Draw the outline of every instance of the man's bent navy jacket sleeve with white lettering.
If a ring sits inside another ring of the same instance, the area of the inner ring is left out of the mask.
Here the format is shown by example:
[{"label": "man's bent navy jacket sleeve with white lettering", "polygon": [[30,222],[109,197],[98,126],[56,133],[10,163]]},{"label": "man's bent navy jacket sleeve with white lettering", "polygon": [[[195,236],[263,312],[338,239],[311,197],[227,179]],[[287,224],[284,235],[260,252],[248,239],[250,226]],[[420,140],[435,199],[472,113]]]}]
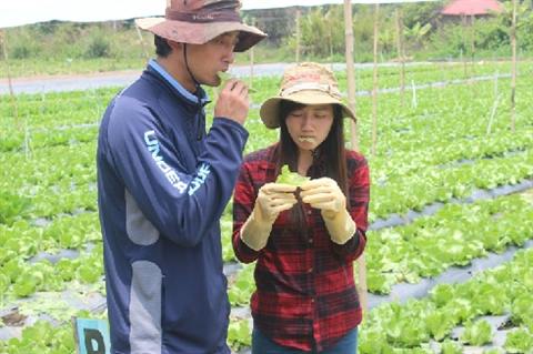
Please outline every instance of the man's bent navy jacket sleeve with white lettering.
[{"label": "man's bent navy jacket sleeve with white lettering", "polygon": [[122,100],[108,129],[111,164],[162,236],[197,245],[218,225],[231,198],[248,132],[237,122],[215,118],[191,173],[151,110]]}]

